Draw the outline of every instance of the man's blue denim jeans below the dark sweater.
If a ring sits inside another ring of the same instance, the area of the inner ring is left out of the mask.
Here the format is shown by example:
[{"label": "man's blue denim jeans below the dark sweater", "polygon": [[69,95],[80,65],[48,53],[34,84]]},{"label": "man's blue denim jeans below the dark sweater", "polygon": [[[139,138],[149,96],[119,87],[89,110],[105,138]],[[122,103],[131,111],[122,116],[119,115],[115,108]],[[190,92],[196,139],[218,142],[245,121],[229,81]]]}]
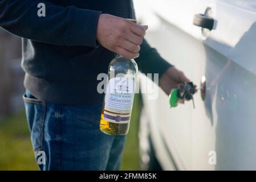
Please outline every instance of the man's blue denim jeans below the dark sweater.
[{"label": "man's blue denim jeans below the dark sweater", "polygon": [[102,105],[50,104],[28,91],[23,100],[36,160],[42,158],[42,151],[45,154],[45,164],[38,164],[41,170],[120,168],[125,137],[101,133]]}]

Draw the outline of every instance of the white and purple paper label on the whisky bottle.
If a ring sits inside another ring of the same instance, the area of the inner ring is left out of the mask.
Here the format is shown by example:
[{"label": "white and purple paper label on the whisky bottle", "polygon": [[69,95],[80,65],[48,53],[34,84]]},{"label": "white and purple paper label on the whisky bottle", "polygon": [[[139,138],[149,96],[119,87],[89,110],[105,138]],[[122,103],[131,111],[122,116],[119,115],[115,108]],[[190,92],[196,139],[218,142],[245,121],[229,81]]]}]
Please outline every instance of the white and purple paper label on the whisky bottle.
[{"label": "white and purple paper label on the whisky bottle", "polygon": [[131,119],[135,82],[131,78],[115,77],[108,81],[107,89],[104,119],[113,123],[128,123]]}]

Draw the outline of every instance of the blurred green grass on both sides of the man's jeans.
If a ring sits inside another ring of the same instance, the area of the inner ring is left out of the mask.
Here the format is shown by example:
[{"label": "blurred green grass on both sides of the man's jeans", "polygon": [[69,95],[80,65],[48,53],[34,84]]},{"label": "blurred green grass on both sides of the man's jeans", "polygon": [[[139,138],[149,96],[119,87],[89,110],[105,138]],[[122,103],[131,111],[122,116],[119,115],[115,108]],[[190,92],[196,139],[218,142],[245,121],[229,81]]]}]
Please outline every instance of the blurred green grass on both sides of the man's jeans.
[{"label": "blurred green grass on both sides of the man's jeans", "polygon": [[[131,126],[123,153],[122,170],[139,170],[137,131],[140,100],[136,96]],[[25,111],[0,122],[0,170],[38,170],[30,142]]]}]

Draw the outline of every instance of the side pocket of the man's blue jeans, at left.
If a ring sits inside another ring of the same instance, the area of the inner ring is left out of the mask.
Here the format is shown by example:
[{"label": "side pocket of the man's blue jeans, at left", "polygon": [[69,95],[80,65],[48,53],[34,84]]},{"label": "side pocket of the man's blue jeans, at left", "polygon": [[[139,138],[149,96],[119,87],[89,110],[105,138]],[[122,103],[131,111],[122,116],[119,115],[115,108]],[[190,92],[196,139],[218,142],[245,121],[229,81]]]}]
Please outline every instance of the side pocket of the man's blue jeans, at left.
[{"label": "side pocket of the man's blue jeans, at left", "polygon": [[23,95],[27,122],[31,132],[31,142],[34,151],[43,148],[43,123],[46,114],[46,103],[39,101],[29,92]]}]

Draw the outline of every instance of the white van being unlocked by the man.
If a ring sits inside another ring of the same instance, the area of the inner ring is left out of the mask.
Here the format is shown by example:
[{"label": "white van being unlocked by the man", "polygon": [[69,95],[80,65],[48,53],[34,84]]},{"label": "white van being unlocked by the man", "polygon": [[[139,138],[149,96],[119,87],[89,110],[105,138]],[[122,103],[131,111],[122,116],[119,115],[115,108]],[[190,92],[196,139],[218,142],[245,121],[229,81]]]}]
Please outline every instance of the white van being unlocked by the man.
[{"label": "white van being unlocked by the man", "polygon": [[200,88],[195,109],[143,94],[143,166],[255,170],[256,1],[137,0],[135,9],[148,42]]}]

